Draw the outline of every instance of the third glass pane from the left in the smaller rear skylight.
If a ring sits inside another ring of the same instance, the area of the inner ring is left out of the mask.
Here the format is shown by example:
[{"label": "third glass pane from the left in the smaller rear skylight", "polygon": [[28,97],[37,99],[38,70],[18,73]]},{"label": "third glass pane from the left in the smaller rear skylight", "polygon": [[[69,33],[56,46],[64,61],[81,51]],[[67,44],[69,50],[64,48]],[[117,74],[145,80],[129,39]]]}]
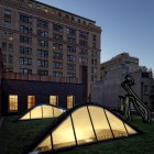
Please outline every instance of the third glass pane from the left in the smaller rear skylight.
[{"label": "third glass pane from the left in the smaller rear skylight", "polygon": [[43,108],[43,118],[53,118],[52,106],[42,106],[42,108]]}]

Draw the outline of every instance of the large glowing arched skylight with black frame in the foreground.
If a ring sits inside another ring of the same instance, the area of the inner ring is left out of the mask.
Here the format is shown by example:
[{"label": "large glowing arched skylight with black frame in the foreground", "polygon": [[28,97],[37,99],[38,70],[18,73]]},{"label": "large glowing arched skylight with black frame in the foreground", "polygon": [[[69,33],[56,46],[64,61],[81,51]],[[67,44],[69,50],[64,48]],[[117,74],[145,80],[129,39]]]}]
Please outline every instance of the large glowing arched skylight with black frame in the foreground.
[{"label": "large glowing arched skylight with black frame in the foreground", "polygon": [[100,105],[85,103],[66,111],[62,117],[34,151],[55,151],[139,133],[135,128]]}]

